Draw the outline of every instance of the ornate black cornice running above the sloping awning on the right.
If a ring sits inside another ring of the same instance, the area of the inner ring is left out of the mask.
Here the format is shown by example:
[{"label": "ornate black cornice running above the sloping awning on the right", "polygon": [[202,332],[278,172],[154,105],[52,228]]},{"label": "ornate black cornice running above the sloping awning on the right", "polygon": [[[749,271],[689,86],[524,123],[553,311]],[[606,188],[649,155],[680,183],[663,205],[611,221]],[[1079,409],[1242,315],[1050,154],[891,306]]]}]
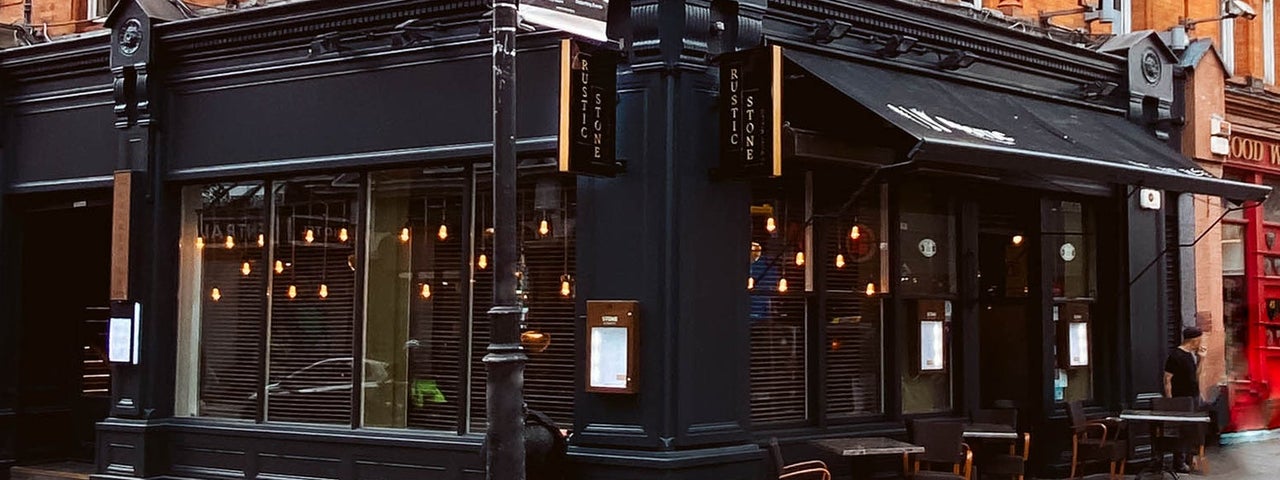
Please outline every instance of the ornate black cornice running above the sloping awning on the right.
[{"label": "ornate black cornice running above the sloping awning on the right", "polygon": [[[956,15],[933,6],[895,0],[769,0],[768,15],[781,22],[842,20],[864,35],[900,33],[920,44],[973,52],[987,63],[1084,81],[1115,81],[1125,59],[1023,33],[1007,26]],[[772,32],[771,32],[772,33]]]}]

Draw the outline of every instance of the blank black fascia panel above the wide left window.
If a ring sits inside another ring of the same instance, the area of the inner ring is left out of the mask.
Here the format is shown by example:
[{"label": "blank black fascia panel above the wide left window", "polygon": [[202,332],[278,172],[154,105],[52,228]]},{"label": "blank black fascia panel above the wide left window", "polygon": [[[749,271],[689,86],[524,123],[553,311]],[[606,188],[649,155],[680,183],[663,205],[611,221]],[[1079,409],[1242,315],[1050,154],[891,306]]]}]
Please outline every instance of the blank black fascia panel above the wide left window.
[{"label": "blank black fascia panel above the wide left window", "polygon": [[[188,78],[169,90],[173,169],[488,142],[486,50]],[[466,55],[463,55],[466,54]],[[520,55],[520,136],[553,136],[557,51]]]}]

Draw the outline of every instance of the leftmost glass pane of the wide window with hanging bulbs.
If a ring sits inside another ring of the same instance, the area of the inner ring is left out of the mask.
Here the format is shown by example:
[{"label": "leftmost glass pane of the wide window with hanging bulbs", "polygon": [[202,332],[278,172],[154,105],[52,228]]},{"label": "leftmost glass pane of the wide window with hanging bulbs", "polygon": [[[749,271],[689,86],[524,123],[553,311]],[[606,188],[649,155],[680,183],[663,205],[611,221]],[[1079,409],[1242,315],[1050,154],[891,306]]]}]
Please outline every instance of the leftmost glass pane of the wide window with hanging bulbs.
[{"label": "leftmost glass pane of the wide window with hanging bulbs", "polygon": [[188,187],[183,204],[183,312],[191,315],[183,324],[197,334],[186,347],[198,349],[189,356],[198,358],[200,378],[198,402],[187,408],[200,416],[252,420],[266,316],[268,270],[257,241],[265,232],[264,186]]}]

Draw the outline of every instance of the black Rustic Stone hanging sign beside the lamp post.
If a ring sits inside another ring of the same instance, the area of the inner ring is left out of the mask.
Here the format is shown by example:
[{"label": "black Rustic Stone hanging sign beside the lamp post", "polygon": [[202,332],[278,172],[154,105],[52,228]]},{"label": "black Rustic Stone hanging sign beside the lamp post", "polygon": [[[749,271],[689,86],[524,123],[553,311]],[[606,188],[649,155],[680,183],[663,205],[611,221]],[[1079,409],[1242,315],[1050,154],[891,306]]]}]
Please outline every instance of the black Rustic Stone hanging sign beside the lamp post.
[{"label": "black Rustic Stone hanging sign beside the lamp post", "polygon": [[617,54],[561,41],[559,170],[613,175]]}]

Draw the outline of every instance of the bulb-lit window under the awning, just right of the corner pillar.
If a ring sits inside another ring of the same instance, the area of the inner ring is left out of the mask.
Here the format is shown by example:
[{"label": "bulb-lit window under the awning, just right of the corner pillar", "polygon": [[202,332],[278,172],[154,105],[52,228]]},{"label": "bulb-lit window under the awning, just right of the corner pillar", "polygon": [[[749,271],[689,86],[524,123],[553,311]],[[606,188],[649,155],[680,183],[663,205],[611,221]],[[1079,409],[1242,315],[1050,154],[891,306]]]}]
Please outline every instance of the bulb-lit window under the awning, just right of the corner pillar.
[{"label": "bulb-lit window under the awning, just right of the corner pillar", "polygon": [[[883,204],[874,186],[849,202],[856,183],[842,175],[788,175],[753,189],[746,288],[755,424],[812,421],[814,396],[828,419],[883,412]],[[809,369],[815,357],[826,366],[817,375]]]}]

